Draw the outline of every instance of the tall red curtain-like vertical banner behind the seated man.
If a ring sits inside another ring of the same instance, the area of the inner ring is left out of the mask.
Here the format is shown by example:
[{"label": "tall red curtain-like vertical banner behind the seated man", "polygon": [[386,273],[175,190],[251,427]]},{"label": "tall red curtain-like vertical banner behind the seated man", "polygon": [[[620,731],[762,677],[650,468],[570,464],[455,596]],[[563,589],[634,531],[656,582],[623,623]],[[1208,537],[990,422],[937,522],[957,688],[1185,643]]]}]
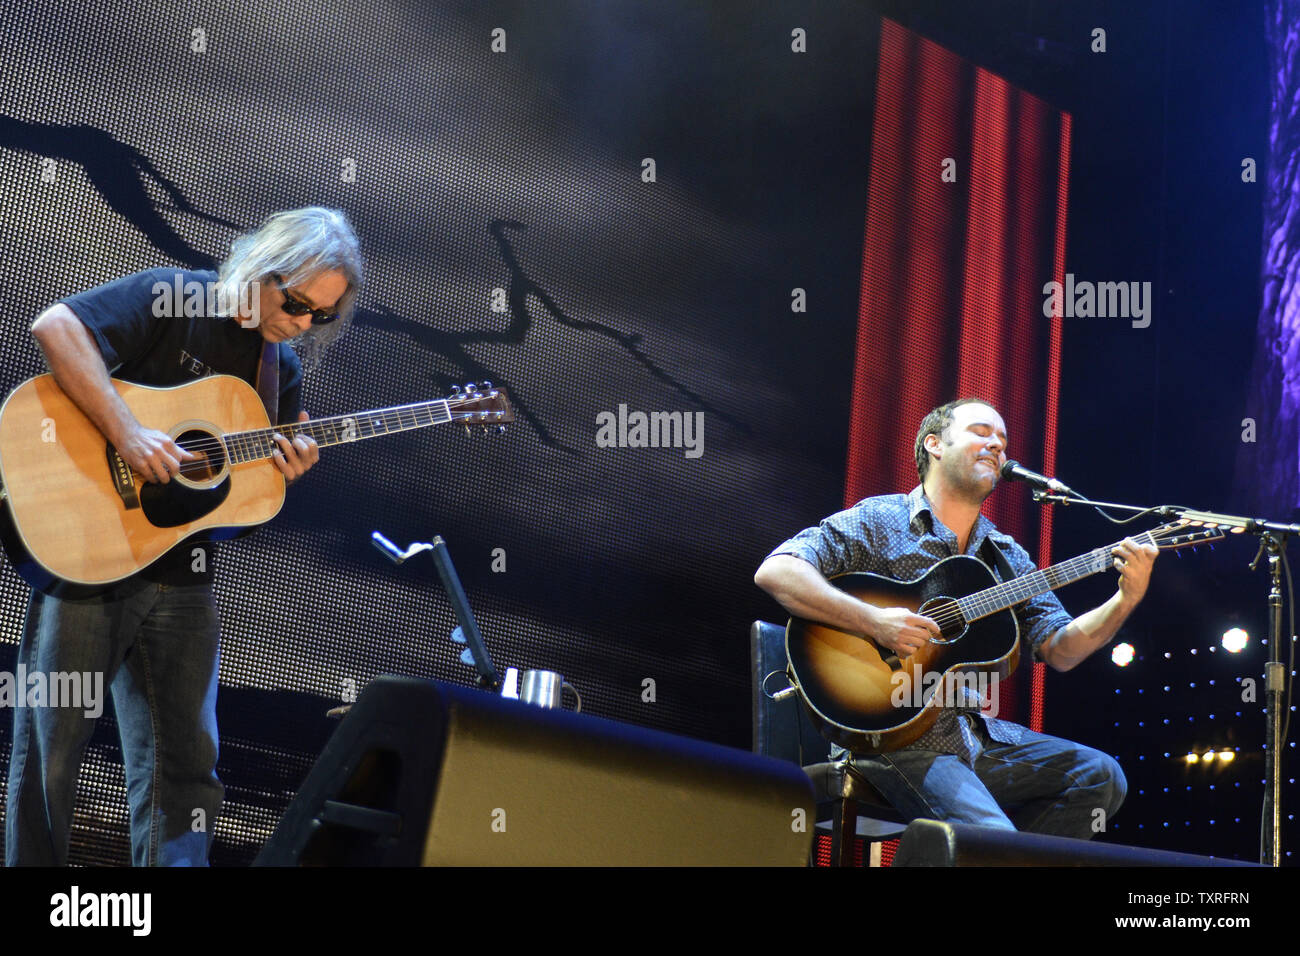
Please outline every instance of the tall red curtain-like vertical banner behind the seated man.
[{"label": "tall red curtain-like vertical banner behind the seated man", "polygon": [[[1065,278],[1069,155],[1067,113],[881,21],[845,506],[911,489],[922,418],[963,395],[1002,414],[1009,457],[1052,473],[1061,329],[1043,287]],[[1036,509],[1013,486],[985,514],[1046,564]]]}]

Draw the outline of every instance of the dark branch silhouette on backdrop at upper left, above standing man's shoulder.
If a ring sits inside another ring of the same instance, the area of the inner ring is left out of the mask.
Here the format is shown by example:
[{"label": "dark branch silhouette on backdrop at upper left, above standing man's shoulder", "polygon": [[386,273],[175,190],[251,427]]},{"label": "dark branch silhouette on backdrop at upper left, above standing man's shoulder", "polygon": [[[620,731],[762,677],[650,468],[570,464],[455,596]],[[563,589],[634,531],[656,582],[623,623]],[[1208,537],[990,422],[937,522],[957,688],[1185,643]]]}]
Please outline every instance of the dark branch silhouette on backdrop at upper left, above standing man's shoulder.
[{"label": "dark branch silhouette on backdrop at upper left, above standing man's shoulder", "polygon": [[[0,147],[35,153],[43,159],[78,164],[109,208],[125,217],[162,254],[195,269],[216,269],[217,261],[191,246],[162,219],[150,195],[152,179],[172,200],[170,208],[230,229],[238,225],[199,209],[152,160],[110,133],[87,126],[60,126],[0,116]],[[56,173],[57,176],[57,173]],[[53,186],[53,183],[49,183]]]}]

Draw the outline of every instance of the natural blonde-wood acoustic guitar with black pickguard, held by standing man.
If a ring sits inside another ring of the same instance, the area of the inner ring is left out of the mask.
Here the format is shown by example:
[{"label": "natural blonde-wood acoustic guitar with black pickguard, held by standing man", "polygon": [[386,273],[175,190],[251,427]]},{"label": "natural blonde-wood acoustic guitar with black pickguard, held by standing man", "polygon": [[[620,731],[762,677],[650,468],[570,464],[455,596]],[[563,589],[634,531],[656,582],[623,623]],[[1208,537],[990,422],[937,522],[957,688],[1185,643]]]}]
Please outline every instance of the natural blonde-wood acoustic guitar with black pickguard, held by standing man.
[{"label": "natural blonde-wood acoustic guitar with black pickguard, held by standing man", "polygon": [[285,476],[270,462],[280,433],[320,446],[464,424],[504,431],[502,389],[484,382],[447,398],[270,427],[256,390],[213,375],[152,388],[113,380],[131,414],[199,455],[165,484],[146,481],[51,375],[29,378],[0,408],[0,540],[32,587],[87,597],[148,567],[196,532],[234,537],[274,518]]}]

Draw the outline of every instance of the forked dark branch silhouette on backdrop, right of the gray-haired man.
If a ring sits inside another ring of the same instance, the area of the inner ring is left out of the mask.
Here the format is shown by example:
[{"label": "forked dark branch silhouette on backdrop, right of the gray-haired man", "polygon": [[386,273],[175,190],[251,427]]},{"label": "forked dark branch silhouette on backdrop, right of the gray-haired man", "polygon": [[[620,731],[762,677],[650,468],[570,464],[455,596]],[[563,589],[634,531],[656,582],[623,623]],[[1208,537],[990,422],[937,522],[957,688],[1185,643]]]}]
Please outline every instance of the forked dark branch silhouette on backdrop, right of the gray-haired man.
[{"label": "forked dark branch silhouette on backdrop, right of the gray-haired man", "polygon": [[[506,282],[506,302],[508,306],[510,323],[504,329],[443,332],[430,325],[412,321],[411,319],[398,315],[385,306],[380,306],[374,310],[358,310],[355,321],[361,325],[384,329],[385,332],[410,336],[425,351],[433,352],[455,365],[456,375],[460,376],[462,381],[482,381],[486,378],[508,389],[511,398],[515,402],[516,411],[524,418],[524,420],[528,421],[529,425],[532,425],[543,445],[569,454],[577,454],[577,449],[571,445],[566,445],[556,438],[549,428],[546,428],[545,423],[542,423],[533,414],[532,408],[529,408],[528,402],[523,398],[520,390],[515,388],[515,385],[510,382],[502,372],[489,368],[482,362],[473,358],[467,350],[467,346],[471,345],[524,345],[529,330],[533,328],[533,310],[529,304],[529,297],[534,297],[555,321],[562,325],[567,325],[571,329],[590,332],[618,343],[633,362],[641,365],[654,378],[659,380],[699,408],[711,412],[729,425],[738,428],[745,434],[751,433],[751,429],[744,421],[719,410],[697,392],[668,373],[658,362],[651,359],[642,349],[642,336],[640,332],[620,332],[612,325],[606,325],[604,323],[588,319],[573,319],[567,315],[564,310],[555,303],[555,299],[550,295],[550,293],[533,281],[528,272],[524,271],[519,258],[515,255],[515,248],[506,233],[507,230],[523,232],[525,229],[528,229],[528,226],[523,222],[508,219],[493,220],[488,225],[488,232],[495,241],[502,261],[506,264],[508,271],[508,278]],[[443,388],[450,388],[455,384],[455,377],[443,377],[441,385]]]}]

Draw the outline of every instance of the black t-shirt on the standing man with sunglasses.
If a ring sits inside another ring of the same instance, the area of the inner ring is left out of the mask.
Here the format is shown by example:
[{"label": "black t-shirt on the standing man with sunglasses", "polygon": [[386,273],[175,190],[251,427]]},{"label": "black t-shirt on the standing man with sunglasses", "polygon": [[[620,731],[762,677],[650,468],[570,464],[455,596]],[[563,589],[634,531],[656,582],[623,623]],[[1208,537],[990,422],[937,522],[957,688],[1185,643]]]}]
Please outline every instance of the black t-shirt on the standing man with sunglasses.
[{"label": "black t-shirt on the standing man with sunglasses", "polygon": [[[90,329],[114,378],[138,385],[179,385],[207,375],[234,375],[256,388],[263,337],[235,319],[209,315],[217,273],[147,269],[62,299]],[[303,367],[280,343],[280,421],[296,421]],[[195,571],[194,548],[204,548]],[[164,584],[212,580],[212,546],[190,538],[138,576]]]}]

